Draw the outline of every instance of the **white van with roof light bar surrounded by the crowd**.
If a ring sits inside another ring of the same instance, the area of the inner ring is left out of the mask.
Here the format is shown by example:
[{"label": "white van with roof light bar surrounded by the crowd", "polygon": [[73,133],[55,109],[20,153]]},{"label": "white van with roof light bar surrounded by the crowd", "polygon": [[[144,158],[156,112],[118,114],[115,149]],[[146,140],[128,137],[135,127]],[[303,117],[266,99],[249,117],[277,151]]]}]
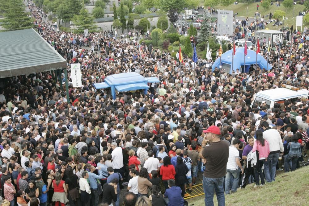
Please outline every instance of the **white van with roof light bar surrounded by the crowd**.
[{"label": "white van with roof light bar surrounded by the crowd", "polygon": [[281,88],[269,89],[256,93],[255,98],[251,103],[251,107],[254,103],[260,106],[262,101],[265,101],[266,106],[269,109],[272,109],[275,102],[284,103],[284,101],[289,99],[298,99],[302,97],[308,98],[308,92],[309,91],[306,89],[299,89],[297,87],[282,84]]}]

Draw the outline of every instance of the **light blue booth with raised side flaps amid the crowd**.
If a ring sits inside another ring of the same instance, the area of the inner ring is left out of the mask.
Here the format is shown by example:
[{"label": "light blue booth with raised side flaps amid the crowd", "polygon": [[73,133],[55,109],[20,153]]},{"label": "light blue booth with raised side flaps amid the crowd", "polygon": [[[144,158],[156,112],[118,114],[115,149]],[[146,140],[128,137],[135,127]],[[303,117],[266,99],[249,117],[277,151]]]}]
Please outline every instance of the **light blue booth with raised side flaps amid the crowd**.
[{"label": "light blue booth with raised side flaps amid the crowd", "polygon": [[143,89],[147,94],[148,83],[160,82],[157,77],[144,77],[136,72],[109,75],[104,82],[95,83],[95,89],[111,88],[113,99],[116,99],[116,90],[126,92],[131,90]]}]

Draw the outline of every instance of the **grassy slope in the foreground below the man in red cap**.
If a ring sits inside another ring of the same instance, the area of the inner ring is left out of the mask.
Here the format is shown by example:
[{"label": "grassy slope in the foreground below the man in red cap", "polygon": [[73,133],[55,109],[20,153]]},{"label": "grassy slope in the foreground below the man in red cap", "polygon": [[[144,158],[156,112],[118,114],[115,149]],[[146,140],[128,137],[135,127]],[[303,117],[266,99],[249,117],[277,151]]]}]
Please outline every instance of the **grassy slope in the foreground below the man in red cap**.
[{"label": "grassy slope in the foreground below the man in red cap", "polygon": [[[307,205],[309,202],[309,168],[302,167],[293,172],[282,173],[276,181],[264,187],[254,188],[249,184],[245,189],[238,189],[236,193],[225,196],[226,205]],[[204,196],[188,200],[189,205],[205,205]],[[214,196],[214,205],[217,198]]]}]

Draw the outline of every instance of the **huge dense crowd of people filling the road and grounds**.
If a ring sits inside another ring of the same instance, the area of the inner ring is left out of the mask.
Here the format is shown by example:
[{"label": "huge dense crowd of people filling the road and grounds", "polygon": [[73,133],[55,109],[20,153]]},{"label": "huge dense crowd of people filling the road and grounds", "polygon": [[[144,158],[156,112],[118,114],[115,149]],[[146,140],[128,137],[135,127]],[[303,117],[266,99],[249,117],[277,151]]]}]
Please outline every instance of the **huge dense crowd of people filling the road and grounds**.
[{"label": "huge dense crowd of people filling the road and grounds", "polygon": [[[238,187],[271,183],[276,171],[294,171],[307,157],[306,98],[273,108],[252,104],[257,92],[282,84],[308,89],[301,37],[273,43],[270,51],[260,44],[261,55],[269,52],[269,71],[252,65],[248,73],[228,74],[201,57],[194,63],[184,56],[179,64],[143,42],[139,51],[137,41],[100,32],[57,32],[40,8],[32,2],[28,8],[68,68],[81,64],[83,85],[69,86],[68,102],[60,88],[70,72],[59,74],[63,82],[53,78],[57,72],[1,81],[1,189],[11,206],[183,206],[202,173],[205,204],[214,204],[216,192],[224,205]],[[116,99],[93,86],[123,72],[160,83],[147,94],[121,92]]]}]

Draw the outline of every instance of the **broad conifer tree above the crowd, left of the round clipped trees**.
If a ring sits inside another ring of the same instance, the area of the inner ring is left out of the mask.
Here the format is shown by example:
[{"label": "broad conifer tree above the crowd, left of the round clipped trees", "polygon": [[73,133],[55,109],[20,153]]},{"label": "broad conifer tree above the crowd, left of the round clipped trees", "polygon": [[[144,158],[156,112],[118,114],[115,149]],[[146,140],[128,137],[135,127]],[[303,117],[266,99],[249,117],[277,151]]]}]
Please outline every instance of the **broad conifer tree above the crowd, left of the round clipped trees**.
[{"label": "broad conifer tree above the crowd, left of the round clipped trees", "polygon": [[83,34],[84,29],[88,29],[89,32],[94,32],[96,26],[94,23],[94,17],[88,13],[87,9],[80,10],[78,15],[74,15],[73,23],[77,27],[75,32],[78,34]]}]

